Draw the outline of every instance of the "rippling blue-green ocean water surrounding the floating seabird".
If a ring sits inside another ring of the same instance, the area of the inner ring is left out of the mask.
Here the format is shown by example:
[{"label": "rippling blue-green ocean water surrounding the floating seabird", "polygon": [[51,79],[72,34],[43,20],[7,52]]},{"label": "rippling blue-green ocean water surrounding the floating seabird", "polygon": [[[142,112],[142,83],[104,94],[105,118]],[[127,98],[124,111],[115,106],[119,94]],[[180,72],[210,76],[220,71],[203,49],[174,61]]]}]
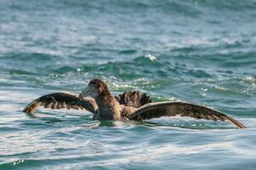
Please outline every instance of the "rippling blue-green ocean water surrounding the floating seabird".
[{"label": "rippling blue-green ocean water surrounding the floating seabird", "polygon": [[[0,0],[0,169],[256,169],[255,0]],[[92,78],[247,126],[21,111]]]}]

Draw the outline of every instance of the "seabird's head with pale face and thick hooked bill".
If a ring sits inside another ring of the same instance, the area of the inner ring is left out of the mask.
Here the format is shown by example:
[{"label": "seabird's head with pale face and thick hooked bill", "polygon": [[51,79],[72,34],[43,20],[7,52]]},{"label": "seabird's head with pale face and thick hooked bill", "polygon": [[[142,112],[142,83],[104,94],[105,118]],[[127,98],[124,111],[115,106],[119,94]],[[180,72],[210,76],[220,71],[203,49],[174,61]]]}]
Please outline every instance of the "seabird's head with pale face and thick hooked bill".
[{"label": "seabird's head with pale face and thick hooked bill", "polygon": [[102,94],[110,94],[108,86],[105,82],[96,78],[88,83],[87,87],[83,89],[81,94],[79,94],[79,98],[82,99],[86,96],[91,96],[92,98],[96,99]]}]

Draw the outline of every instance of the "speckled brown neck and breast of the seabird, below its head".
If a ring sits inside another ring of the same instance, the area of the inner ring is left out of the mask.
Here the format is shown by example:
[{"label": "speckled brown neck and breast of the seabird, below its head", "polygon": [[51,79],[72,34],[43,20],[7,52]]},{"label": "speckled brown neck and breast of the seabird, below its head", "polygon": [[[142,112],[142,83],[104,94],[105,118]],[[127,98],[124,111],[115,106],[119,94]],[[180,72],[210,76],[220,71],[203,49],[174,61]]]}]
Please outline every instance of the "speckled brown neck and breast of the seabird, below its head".
[{"label": "speckled brown neck and breast of the seabird, below its head", "polygon": [[102,120],[119,120],[120,105],[110,93],[102,93],[96,98],[98,114]]}]

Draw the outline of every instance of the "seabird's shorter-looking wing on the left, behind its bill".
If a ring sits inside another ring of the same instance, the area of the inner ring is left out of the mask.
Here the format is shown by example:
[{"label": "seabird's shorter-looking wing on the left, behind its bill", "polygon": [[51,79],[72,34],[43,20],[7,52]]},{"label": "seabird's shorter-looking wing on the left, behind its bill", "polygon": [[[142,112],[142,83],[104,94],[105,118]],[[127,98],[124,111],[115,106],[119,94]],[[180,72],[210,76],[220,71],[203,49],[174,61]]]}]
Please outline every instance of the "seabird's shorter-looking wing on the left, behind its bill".
[{"label": "seabird's shorter-looking wing on the left, behind its bill", "polygon": [[26,105],[26,108],[23,112],[33,113],[38,110],[40,106],[49,109],[75,109],[75,110],[87,110],[92,113],[95,113],[97,105],[94,99],[84,98],[79,99],[79,96],[71,93],[55,93],[55,94],[46,94],[41,96],[38,99],[35,99],[29,105]]}]

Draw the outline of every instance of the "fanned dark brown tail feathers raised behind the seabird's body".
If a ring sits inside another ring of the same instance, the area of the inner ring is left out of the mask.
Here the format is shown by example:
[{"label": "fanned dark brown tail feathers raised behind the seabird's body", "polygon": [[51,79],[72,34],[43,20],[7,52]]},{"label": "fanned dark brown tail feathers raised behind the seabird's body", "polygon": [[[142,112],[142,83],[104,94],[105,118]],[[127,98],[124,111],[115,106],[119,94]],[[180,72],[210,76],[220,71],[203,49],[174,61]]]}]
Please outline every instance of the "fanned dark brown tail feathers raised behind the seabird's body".
[{"label": "fanned dark brown tail feathers raised behind the seabird's body", "polygon": [[114,96],[120,105],[139,108],[143,105],[151,103],[151,99],[147,94],[141,94],[139,91],[129,91],[119,96]]}]

